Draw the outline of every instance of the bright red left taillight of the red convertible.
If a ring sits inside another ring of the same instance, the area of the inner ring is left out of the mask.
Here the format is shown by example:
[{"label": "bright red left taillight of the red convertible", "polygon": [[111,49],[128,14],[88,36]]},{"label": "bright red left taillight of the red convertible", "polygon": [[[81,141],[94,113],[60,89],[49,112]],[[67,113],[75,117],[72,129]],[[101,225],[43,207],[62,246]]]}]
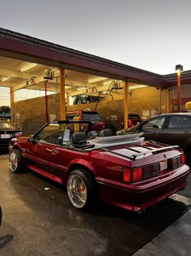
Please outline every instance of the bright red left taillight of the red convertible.
[{"label": "bright red left taillight of the red convertible", "polygon": [[142,168],[123,168],[122,178],[126,183],[138,182],[142,180]]}]

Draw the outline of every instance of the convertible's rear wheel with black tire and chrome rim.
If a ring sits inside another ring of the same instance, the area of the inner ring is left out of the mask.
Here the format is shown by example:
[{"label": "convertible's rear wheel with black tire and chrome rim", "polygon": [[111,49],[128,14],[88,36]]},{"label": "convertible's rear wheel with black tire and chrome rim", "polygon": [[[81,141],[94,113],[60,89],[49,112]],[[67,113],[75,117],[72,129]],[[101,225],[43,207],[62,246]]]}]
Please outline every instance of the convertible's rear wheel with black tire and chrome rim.
[{"label": "convertible's rear wheel with black tire and chrome rim", "polygon": [[67,193],[71,204],[80,210],[94,210],[97,206],[96,180],[84,169],[71,171]]}]

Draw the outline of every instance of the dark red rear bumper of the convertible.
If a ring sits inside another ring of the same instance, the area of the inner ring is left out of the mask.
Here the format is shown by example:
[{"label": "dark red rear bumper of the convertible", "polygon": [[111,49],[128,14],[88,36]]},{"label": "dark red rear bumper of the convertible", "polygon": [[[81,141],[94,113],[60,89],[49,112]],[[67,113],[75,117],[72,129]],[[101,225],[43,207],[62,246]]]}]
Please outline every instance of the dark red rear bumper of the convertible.
[{"label": "dark red rear bumper of the convertible", "polygon": [[184,189],[189,167],[183,166],[165,178],[149,180],[146,184],[113,185],[99,182],[100,200],[127,210],[143,210]]}]

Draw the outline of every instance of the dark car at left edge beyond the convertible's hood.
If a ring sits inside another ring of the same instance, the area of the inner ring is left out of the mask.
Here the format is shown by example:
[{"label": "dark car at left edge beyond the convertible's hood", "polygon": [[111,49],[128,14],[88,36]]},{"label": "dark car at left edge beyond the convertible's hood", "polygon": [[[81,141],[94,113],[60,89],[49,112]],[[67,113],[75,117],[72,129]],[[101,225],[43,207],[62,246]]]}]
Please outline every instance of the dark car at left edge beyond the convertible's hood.
[{"label": "dark car at left edge beyond the convertible's hood", "polygon": [[23,132],[15,129],[13,124],[0,121],[0,150],[8,150],[11,139],[22,136]]}]

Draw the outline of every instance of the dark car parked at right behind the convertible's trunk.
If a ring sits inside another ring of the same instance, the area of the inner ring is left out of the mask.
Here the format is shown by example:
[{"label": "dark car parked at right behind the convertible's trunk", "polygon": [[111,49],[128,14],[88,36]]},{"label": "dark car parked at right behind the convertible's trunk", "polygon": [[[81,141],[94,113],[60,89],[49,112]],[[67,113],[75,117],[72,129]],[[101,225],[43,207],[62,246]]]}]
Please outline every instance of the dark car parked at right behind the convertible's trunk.
[{"label": "dark car parked at right behind the convertible's trunk", "polygon": [[169,145],[180,145],[191,160],[191,113],[171,113],[146,119],[134,128],[117,132],[143,132],[146,140],[159,141]]}]

